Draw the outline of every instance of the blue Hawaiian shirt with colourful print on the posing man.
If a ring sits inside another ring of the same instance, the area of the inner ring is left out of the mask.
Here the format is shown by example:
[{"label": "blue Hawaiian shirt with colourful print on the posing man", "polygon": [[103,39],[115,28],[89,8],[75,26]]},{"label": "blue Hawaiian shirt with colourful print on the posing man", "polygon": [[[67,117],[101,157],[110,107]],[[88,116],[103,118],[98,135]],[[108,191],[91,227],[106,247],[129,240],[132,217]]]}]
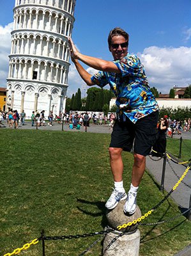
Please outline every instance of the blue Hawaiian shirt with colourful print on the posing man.
[{"label": "blue Hawaiian shirt with colourful print on the posing man", "polygon": [[91,77],[91,81],[103,88],[109,84],[116,95],[118,116],[125,120],[127,116],[132,122],[158,110],[158,104],[151,92],[144,67],[139,58],[127,54],[122,60],[113,61],[121,73],[99,71]]}]

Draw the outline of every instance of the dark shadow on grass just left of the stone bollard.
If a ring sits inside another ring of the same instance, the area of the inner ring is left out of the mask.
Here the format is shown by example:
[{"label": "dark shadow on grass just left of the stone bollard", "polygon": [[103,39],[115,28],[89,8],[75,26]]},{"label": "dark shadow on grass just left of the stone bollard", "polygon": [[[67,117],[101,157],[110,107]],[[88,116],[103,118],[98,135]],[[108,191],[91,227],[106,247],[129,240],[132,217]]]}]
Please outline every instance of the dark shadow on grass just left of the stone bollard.
[{"label": "dark shadow on grass just left of the stone bollard", "polygon": [[100,202],[100,201],[91,202],[91,201],[87,201],[87,200],[80,199],[80,198],[77,198],[77,202],[79,202],[81,204],[86,204],[86,205],[95,205],[97,207],[97,209],[100,210],[99,212],[87,211],[86,209],[82,209],[82,207],[78,207],[78,206],[77,206],[77,209],[79,209],[79,211],[83,212],[84,214],[88,214],[92,217],[102,216],[101,225],[102,225],[103,228],[105,228],[107,226],[107,219],[105,217],[105,203],[104,202]]}]

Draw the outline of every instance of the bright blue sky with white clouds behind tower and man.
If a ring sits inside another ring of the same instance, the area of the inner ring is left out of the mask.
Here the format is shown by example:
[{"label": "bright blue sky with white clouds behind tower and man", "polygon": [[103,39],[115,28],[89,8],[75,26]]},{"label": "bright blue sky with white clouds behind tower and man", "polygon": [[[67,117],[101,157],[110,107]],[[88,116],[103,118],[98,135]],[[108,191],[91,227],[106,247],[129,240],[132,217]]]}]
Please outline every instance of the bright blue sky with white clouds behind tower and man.
[{"label": "bright blue sky with white clouds behind tower and man", "polygon": [[[1,0],[0,57],[4,65],[0,63],[0,86],[6,86],[14,4],[15,0]],[[168,93],[174,84],[191,84],[190,0],[76,1],[72,38],[82,53],[112,60],[107,36],[116,26],[129,33],[128,51],[141,58],[151,87]],[[92,68],[88,71],[95,72]],[[69,97],[84,84],[73,65],[68,83]]]}]

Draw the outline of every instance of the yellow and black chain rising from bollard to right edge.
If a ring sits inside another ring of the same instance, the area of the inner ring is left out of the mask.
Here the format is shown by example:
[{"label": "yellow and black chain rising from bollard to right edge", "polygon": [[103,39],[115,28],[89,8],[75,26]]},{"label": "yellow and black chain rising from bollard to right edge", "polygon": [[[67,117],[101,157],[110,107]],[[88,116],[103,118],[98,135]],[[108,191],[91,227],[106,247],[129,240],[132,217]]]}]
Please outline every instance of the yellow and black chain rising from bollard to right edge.
[{"label": "yellow and black chain rising from bollard to right edge", "polygon": [[164,198],[157,204],[155,205],[155,207],[153,207],[150,211],[146,212],[144,215],[142,215],[140,218],[137,218],[137,220],[134,221],[130,221],[128,223],[125,223],[123,225],[119,225],[117,228],[118,230],[120,230],[121,228],[127,228],[130,227],[132,225],[135,225],[137,223],[139,223],[140,221],[144,220],[145,218],[147,218],[153,211],[155,211],[160,205],[162,205],[164,203],[165,200],[167,200],[167,198],[169,198],[169,196],[172,194],[172,192],[178,188],[180,182],[184,179],[185,175],[187,175],[188,170],[190,170],[190,166],[187,167],[187,169],[185,170],[185,172],[183,173],[183,175],[181,175],[181,178],[178,180],[178,182],[176,182],[176,184],[174,185],[174,187],[171,189],[171,191],[164,196]]}]

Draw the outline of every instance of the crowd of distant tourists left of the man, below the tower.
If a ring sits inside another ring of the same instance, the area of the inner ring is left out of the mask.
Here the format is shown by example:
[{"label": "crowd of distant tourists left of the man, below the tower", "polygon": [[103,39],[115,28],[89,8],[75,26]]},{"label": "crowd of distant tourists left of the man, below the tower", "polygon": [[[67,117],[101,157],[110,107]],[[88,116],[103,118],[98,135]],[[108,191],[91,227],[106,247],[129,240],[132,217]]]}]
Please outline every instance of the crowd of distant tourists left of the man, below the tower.
[{"label": "crowd of distant tourists left of the man, below the tower", "polygon": [[[46,125],[51,127],[54,125],[54,122],[57,122],[58,124],[64,122],[64,124],[69,125],[70,129],[76,127],[77,129],[80,129],[81,126],[89,127],[89,122],[92,120],[93,125],[109,124],[110,129],[112,129],[116,116],[114,113],[107,116],[103,115],[103,113],[90,113],[85,111],[83,113],[74,111],[71,113],[59,113],[59,115],[53,115],[53,112],[50,111],[49,116],[45,117],[45,110],[36,110],[32,112],[31,116],[27,116],[27,119],[31,120],[31,126],[37,125],[38,127]],[[8,125],[10,128],[19,128],[19,125],[25,125],[25,120],[26,113],[24,110],[21,113],[11,108],[8,108],[8,111],[0,111],[0,127],[6,127],[6,125]]]}]

